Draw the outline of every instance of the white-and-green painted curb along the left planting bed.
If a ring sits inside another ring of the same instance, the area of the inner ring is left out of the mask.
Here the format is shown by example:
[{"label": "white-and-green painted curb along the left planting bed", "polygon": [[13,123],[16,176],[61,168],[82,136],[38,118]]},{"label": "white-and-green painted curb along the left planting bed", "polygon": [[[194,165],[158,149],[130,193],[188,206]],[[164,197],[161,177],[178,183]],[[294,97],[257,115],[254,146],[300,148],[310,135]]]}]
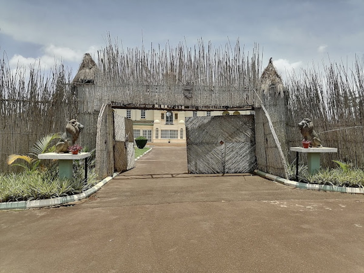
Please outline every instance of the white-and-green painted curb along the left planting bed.
[{"label": "white-and-green painted curb along the left planting bed", "polygon": [[84,191],[83,193],[74,194],[70,196],[57,197],[57,198],[50,198],[50,199],[0,203],[0,210],[33,209],[37,207],[57,206],[70,202],[79,201],[89,197],[91,194],[94,194],[96,191],[101,189],[103,185],[105,185],[107,182],[109,182],[112,178],[114,178],[118,174],[119,173],[114,173],[112,176],[104,178],[102,181],[97,183],[92,188]]}]

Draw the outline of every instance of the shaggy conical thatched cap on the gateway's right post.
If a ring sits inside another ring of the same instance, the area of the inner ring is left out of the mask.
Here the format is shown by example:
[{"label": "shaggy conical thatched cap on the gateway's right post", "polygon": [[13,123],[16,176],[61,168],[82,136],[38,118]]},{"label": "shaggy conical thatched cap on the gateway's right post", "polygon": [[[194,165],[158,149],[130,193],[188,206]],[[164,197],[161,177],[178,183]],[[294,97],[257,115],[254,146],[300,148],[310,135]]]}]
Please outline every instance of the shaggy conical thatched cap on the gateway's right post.
[{"label": "shaggy conical thatched cap on the gateway's right post", "polygon": [[260,83],[262,94],[267,96],[283,96],[284,86],[282,78],[274,67],[272,58],[269,59],[268,66],[265,68],[260,77]]}]

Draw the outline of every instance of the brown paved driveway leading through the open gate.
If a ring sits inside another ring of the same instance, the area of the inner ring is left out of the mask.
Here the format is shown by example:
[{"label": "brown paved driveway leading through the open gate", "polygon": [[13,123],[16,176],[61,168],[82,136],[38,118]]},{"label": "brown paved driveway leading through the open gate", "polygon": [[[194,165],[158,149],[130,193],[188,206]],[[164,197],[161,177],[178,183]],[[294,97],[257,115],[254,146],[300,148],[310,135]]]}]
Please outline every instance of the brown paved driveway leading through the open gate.
[{"label": "brown paved driveway leading through the open gate", "polygon": [[186,161],[154,147],[87,200],[0,211],[0,272],[364,272],[364,196]]}]

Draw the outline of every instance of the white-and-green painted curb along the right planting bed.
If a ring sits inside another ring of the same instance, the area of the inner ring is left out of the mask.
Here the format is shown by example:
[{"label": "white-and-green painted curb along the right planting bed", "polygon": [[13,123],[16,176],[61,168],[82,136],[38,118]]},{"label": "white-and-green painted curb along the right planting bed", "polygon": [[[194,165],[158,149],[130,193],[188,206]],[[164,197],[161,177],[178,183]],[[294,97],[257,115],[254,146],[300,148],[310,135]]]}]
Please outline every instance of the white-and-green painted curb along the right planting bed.
[{"label": "white-and-green painted curb along the right planting bed", "polygon": [[257,174],[261,177],[276,181],[283,185],[295,187],[295,188],[299,188],[299,189],[336,191],[339,193],[364,194],[363,188],[340,187],[340,186],[329,186],[329,185],[319,185],[319,184],[308,184],[308,183],[296,182],[296,181],[284,179],[284,178],[281,178],[281,177],[278,177],[278,176],[275,176],[272,174],[267,174],[260,170],[254,170],[254,174]]}]

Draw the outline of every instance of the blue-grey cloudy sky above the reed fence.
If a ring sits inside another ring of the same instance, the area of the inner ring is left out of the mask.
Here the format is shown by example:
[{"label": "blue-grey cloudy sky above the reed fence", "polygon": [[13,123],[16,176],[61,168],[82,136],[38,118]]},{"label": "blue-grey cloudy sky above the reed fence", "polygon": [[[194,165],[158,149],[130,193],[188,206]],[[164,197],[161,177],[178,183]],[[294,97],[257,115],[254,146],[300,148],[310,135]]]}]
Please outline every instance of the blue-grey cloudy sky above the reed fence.
[{"label": "blue-grey cloudy sky above the reed fence", "polygon": [[364,54],[363,0],[0,0],[0,52],[11,69],[63,62],[75,75],[83,54],[106,46],[155,48],[202,39],[214,47],[254,43],[283,78],[292,70]]}]

